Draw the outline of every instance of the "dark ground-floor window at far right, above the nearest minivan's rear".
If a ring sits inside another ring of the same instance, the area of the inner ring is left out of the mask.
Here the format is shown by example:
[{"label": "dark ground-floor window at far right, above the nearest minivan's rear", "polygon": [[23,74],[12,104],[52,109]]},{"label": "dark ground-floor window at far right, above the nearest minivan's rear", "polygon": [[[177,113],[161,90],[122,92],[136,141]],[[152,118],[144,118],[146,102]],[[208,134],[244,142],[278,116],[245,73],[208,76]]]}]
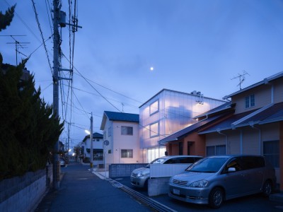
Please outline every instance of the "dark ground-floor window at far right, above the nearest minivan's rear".
[{"label": "dark ground-floor window at far right, above the nearest minivan's rear", "polygon": [[279,167],[279,141],[264,141],[263,156],[265,156],[274,167]]}]

